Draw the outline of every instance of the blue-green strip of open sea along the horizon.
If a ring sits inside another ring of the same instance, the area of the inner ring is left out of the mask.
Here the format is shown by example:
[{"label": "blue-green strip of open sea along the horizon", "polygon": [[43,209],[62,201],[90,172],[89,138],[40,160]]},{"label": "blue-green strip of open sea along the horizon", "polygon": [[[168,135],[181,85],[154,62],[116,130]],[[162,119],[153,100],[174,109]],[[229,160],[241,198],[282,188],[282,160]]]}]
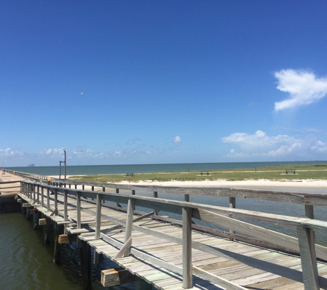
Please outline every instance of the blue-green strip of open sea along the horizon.
[{"label": "blue-green strip of open sea along the horizon", "polygon": [[[274,161],[274,162],[228,162],[228,163],[185,163],[185,164],[129,164],[67,166],[67,175],[122,174],[126,172],[180,172],[196,170],[224,170],[237,168],[256,168],[266,166],[326,164],[327,161]],[[59,175],[59,166],[8,167],[10,170],[34,173],[37,175]],[[63,166],[61,168],[63,175]]]}]

